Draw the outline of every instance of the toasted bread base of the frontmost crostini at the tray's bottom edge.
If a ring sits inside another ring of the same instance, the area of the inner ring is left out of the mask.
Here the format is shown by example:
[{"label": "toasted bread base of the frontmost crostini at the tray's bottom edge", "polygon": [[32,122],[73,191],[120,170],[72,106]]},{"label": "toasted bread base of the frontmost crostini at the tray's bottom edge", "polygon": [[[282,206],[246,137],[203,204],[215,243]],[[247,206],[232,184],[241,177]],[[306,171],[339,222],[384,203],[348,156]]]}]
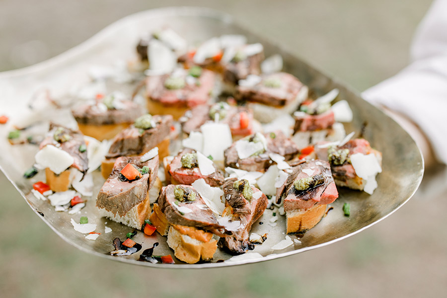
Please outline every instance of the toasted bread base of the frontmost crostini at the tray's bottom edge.
[{"label": "toasted bread base of the frontmost crostini at the tray's bottom edge", "polygon": [[[193,228],[193,227],[189,227]],[[212,238],[212,233],[204,232],[207,236],[211,234],[209,241],[202,241],[198,235],[183,234],[174,226],[169,228],[167,243],[174,250],[177,259],[188,264],[195,264],[200,260],[208,261],[214,256],[217,249],[217,240]],[[192,237],[193,236],[193,237]],[[194,238],[196,236],[196,238]],[[209,237],[209,236],[208,236]],[[200,237],[201,238],[201,237]],[[205,240],[205,239],[203,239]]]}]

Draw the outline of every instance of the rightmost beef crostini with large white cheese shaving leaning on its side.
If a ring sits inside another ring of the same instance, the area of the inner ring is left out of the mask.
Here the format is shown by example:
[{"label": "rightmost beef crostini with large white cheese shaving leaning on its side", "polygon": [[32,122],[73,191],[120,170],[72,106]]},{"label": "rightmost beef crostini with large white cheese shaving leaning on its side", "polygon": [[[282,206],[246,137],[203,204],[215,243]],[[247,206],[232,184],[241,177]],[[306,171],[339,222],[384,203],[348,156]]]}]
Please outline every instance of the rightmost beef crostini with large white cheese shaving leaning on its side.
[{"label": "rightmost beef crostini with large white cheese shaving leaning on its side", "polygon": [[329,160],[337,186],[373,194],[377,187],[375,176],[382,171],[382,153],[371,148],[367,140],[354,139],[343,146],[329,146],[327,151],[317,152],[319,157],[324,155],[320,158]]}]

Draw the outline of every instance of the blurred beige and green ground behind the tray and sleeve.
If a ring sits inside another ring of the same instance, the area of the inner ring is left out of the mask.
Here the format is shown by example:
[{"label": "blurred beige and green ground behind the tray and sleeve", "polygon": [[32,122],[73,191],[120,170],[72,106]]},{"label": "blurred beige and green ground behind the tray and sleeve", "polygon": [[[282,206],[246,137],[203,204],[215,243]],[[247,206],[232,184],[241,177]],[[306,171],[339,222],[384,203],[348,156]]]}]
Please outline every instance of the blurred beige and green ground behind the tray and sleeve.
[{"label": "blurred beige and green ground behind the tray and sleeve", "polygon": [[[195,5],[234,15],[362,91],[408,63],[430,2],[0,0],[0,71],[56,56],[128,14]],[[0,174],[0,297],[446,297],[442,170],[428,173],[394,215],[358,235],[279,260],[191,271],[131,266],[77,250]]]}]

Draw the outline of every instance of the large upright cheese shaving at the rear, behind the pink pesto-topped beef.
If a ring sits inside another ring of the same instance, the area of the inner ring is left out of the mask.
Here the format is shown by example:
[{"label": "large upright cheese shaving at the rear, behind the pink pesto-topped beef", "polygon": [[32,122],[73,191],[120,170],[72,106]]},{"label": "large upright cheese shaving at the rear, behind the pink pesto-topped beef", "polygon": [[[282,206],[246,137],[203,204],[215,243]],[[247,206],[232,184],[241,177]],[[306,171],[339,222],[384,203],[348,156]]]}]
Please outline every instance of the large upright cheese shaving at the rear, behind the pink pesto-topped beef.
[{"label": "large upright cheese shaving at the rear, behind the pink pesto-topped beef", "polygon": [[151,39],[148,44],[149,70],[167,74],[177,65],[177,56],[159,40]]}]

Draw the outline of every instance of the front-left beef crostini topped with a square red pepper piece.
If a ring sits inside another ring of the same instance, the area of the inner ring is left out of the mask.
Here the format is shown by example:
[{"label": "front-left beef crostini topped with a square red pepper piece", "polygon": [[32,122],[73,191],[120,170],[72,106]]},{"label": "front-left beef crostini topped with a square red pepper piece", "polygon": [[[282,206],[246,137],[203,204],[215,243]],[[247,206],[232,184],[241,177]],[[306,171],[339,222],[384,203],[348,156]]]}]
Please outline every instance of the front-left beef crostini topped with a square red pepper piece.
[{"label": "front-left beef crostini topped with a square red pepper piece", "polygon": [[141,229],[149,218],[149,190],[156,187],[159,161],[157,155],[146,161],[142,158],[122,156],[116,159],[112,173],[96,198],[100,216],[136,229]]}]

